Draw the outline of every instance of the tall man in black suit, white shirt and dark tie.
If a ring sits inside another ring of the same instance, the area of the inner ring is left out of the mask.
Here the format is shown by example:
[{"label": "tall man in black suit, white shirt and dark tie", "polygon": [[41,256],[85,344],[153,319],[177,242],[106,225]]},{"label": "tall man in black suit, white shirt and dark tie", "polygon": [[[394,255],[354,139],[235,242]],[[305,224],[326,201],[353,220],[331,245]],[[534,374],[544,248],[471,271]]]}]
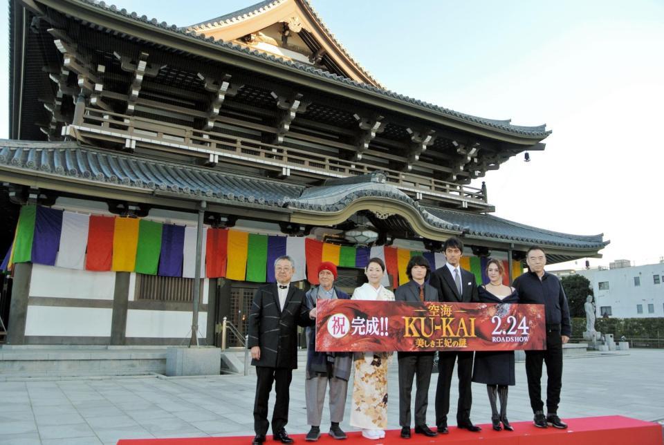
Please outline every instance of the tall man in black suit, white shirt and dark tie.
[{"label": "tall man in black suit, white shirt and dark tie", "polygon": [[[431,276],[430,284],[439,292],[441,301],[450,303],[479,303],[475,276],[461,269],[459,261],[463,255],[463,243],[458,238],[449,238],[443,245],[447,264],[436,269]],[[436,386],[436,426],[439,433],[448,433],[448,413],[450,412],[450,386],[454,361],[459,359],[457,375],[459,377],[459,404],[457,405],[457,427],[469,431],[480,431],[482,428],[470,422],[470,405],[472,393],[473,352],[439,352],[438,386]]]}]

